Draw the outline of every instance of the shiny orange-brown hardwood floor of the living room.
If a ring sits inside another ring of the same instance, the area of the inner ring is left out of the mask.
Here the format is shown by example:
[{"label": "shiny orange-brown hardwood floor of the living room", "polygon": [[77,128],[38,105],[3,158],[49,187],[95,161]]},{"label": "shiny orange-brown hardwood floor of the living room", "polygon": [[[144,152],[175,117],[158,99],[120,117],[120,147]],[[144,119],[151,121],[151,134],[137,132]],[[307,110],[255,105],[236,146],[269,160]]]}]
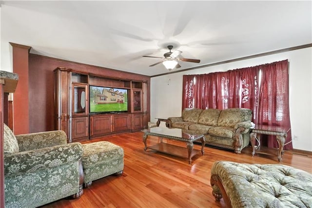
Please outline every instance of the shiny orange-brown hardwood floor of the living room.
[{"label": "shiny orange-brown hardwood floor of the living room", "polygon": [[[225,160],[248,164],[283,164],[312,173],[312,157],[285,151],[283,161],[278,163],[277,150],[272,155],[256,153],[251,147],[240,155],[233,151],[205,147],[193,157],[191,165],[187,158],[180,158],[154,150],[144,152],[142,132],[121,134],[82,142],[110,141],[124,149],[124,172],[122,176],[107,176],[94,181],[84,189],[80,199],[61,199],[43,208],[219,208],[223,200],[215,202],[210,186],[210,169],[215,161]],[[148,137],[148,145],[158,142]],[[163,142],[186,146],[185,143],[164,139]],[[194,145],[195,149],[201,146]],[[187,153],[187,149],[185,148]]]}]

